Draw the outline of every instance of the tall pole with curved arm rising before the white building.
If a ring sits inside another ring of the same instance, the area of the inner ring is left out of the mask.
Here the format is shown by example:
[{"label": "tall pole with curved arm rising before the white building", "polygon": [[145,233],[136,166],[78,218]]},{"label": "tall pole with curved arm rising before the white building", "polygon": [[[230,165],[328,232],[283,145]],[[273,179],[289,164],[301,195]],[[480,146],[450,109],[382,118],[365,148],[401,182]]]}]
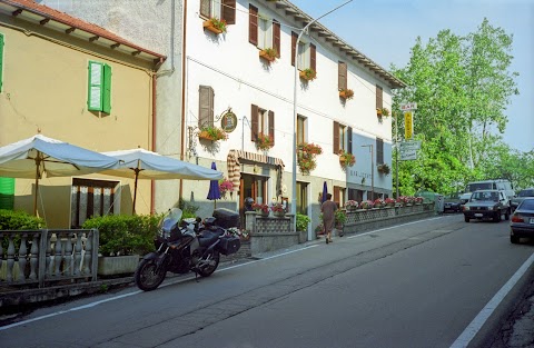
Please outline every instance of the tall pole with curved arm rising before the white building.
[{"label": "tall pole with curved arm rising before the white building", "polygon": [[[300,33],[297,37],[297,41],[295,42],[295,83],[293,86],[293,195],[291,195],[291,213],[294,216],[293,219],[293,229],[296,231],[297,230],[297,82],[298,82],[298,43],[300,42],[300,38],[303,37],[304,32],[322,19],[323,17],[334,12],[335,10],[344,7],[345,4],[353,2],[354,0],[348,0],[338,7],[329,10],[325,14],[322,14],[317,17],[316,19],[312,20],[309,23],[307,23]],[[308,232],[308,240],[312,240],[312,231]]]}]

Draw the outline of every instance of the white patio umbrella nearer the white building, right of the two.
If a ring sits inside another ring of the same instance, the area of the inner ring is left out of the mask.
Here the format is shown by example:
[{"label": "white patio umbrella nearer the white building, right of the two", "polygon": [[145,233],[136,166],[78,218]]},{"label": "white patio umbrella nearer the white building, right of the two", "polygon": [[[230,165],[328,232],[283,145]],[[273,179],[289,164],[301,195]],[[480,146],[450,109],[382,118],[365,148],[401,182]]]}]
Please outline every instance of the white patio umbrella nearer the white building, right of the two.
[{"label": "white patio umbrella nearer the white building, right of the two", "polygon": [[136,212],[138,179],[222,179],[222,172],[220,171],[180,161],[179,159],[161,156],[159,153],[140,148],[131,150],[109,151],[103,152],[103,155],[111,156],[120,160],[120,163],[118,169],[105,170],[101,173],[135,179],[132,213]]}]

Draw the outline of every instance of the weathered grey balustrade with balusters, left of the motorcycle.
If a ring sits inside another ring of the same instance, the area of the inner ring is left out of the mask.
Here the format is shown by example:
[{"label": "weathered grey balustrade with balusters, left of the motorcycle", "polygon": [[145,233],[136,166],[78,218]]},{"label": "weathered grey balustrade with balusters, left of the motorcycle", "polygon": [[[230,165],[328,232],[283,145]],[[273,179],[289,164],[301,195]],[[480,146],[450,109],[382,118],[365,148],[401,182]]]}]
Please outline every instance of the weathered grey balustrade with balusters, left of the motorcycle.
[{"label": "weathered grey balustrade with balusters, left of the motorcycle", "polygon": [[0,230],[0,286],[96,281],[98,229]]}]

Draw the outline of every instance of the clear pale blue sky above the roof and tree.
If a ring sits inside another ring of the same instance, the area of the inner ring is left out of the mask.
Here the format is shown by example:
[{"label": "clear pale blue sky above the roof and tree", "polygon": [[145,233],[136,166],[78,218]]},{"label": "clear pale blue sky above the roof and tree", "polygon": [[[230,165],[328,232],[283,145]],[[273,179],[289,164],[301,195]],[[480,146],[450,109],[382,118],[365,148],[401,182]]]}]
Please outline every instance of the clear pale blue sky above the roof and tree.
[{"label": "clear pale blue sky above the roof and tree", "polygon": [[[313,18],[347,0],[289,0]],[[426,44],[441,30],[475,32],[484,18],[513,34],[508,71],[516,71],[518,96],[511,97],[503,139],[520,151],[534,150],[534,0],[353,0],[319,20],[335,34],[389,70],[403,68],[417,37]]]}]

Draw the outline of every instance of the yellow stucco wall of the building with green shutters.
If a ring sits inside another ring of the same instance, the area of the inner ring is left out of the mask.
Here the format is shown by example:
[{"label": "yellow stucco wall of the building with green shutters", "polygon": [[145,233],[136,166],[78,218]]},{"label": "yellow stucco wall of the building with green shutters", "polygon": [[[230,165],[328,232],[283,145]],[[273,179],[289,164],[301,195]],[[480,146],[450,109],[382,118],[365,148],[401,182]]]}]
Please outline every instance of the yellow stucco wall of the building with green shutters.
[{"label": "yellow stucco wall of the building with green shutters", "polygon": [[[152,92],[146,63],[136,66],[130,57],[122,61],[111,52],[106,56],[101,48],[91,51],[90,43],[40,26],[3,17],[0,21],[4,23],[0,26],[4,34],[0,146],[29,138],[38,130],[93,151],[150,146]],[[110,115],[87,110],[90,60],[111,66]],[[101,175],[86,177],[116,179]],[[126,211],[131,209],[132,181],[118,180],[125,183],[122,208]],[[31,212],[34,181],[16,179],[16,209]],[[71,178],[40,180],[39,215],[46,217],[49,227],[70,226],[70,185]],[[149,185],[140,182],[138,195],[149,198]],[[149,212],[150,207],[138,205],[138,208]]]}]

